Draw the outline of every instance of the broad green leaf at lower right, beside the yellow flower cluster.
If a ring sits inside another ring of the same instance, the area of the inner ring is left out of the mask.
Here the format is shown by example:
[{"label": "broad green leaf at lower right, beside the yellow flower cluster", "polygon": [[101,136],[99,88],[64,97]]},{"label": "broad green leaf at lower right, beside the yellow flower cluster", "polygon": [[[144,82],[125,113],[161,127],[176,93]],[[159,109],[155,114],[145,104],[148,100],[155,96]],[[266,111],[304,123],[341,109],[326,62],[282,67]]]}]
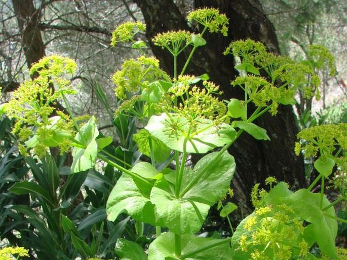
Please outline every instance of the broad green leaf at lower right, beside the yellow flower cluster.
[{"label": "broad green leaf at lower right, beside the yellow flower cluster", "polygon": [[295,212],[305,221],[311,223],[310,235],[317,241],[319,249],[335,259],[337,257],[335,250],[335,238],[337,236],[337,221],[326,214],[335,216],[334,207],[323,211],[322,208],[330,205],[330,202],[324,196],[321,204],[321,195],[312,193],[307,189],[301,189],[291,194],[286,202]]}]

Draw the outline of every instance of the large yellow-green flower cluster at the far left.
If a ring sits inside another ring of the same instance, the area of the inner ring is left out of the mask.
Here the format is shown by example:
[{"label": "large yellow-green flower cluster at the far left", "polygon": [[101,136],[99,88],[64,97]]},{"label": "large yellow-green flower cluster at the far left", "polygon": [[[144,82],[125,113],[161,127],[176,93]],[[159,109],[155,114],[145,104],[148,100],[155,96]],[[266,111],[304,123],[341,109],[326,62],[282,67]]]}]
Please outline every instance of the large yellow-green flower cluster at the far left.
[{"label": "large yellow-green flower cluster at the far left", "polygon": [[[4,112],[16,120],[12,132],[19,136],[21,153],[26,154],[26,148],[34,148],[35,153],[42,156],[47,146],[60,146],[61,152],[67,150],[72,124],[54,105],[62,94],[74,93],[68,77],[76,67],[68,58],[44,57],[30,69],[30,74],[36,77],[22,83],[5,104]],[[57,116],[51,118],[53,114]]]}]

